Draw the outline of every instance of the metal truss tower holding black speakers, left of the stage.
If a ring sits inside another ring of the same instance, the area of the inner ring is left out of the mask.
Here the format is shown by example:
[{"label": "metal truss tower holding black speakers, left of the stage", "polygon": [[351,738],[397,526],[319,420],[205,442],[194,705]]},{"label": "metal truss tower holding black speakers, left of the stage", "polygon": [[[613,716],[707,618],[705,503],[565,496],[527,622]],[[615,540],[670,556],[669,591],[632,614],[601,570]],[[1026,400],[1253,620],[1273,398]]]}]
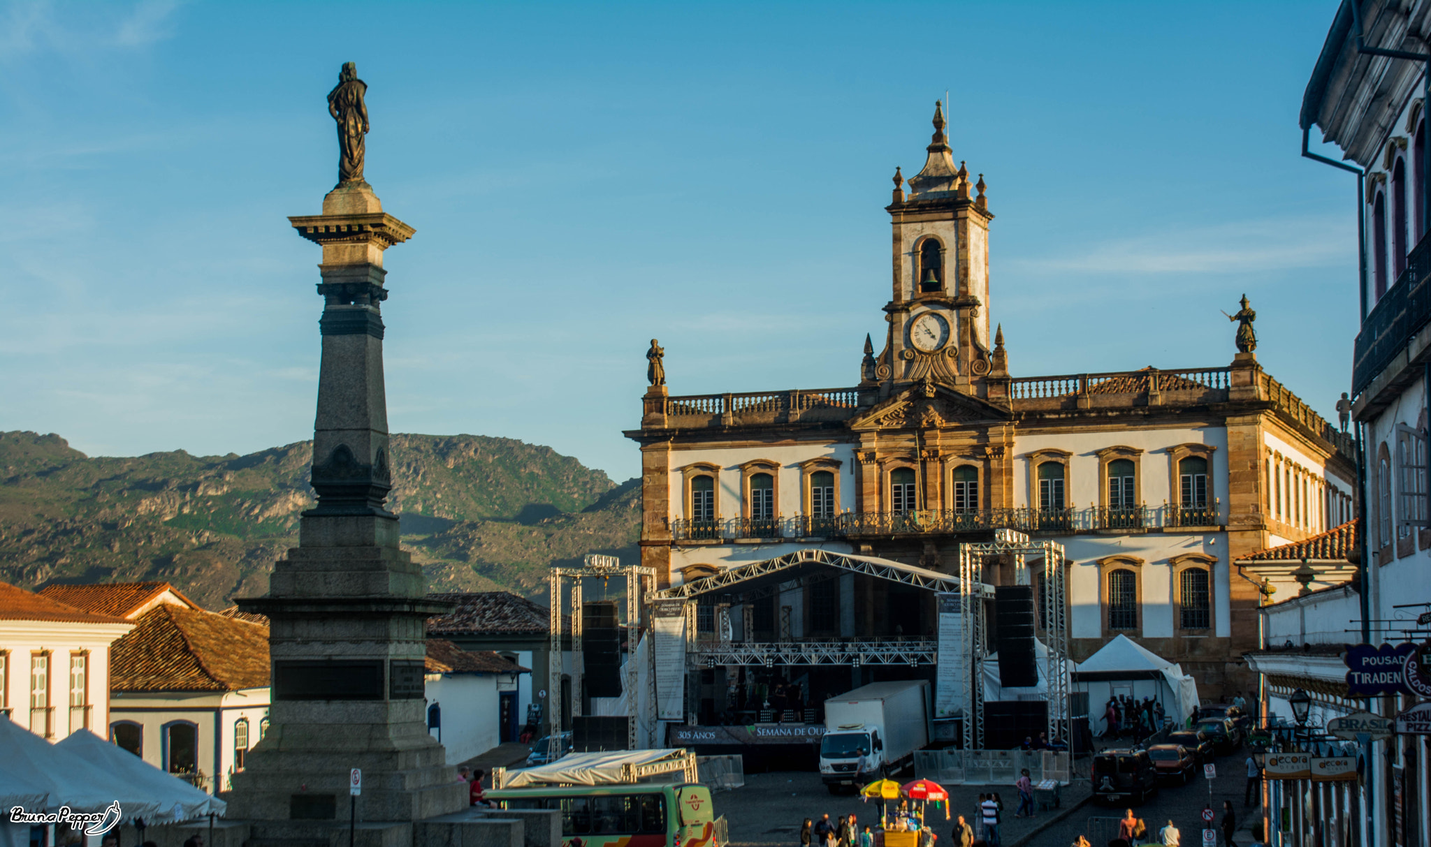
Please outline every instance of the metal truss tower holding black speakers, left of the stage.
[{"label": "metal truss tower holding black speakers, left of the stage", "polygon": [[[644,598],[651,594],[655,587],[655,568],[643,568],[640,565],[622,565],[621,559],[608,555],[587,555],[582,559],[580,568],[552,568],[547,579],[550,588],[550,604],[551,609],[551,648],[547,661],[547,761],[557,761],[561,755],[561,594],[562,594],[562,579],[571,579],[571,717],[581,715],[581,690],[582,690],[582,675],[585,672],[585,655],[581,650],[581,581],[584,578],[595,579],[610,579],[611,577],[625,575],[627,581],[627,614],[625,621],[618,624],[627,630],[627,652],[628,661],[625,662],[625,691],[631,694],[633,713],[635,711],[637,702],[637,685],[638,674],[635,661],[630,657],[635,655],[637,634],[641,627],[641,607]],[[653,700],[654,704],[654,700]],[[627,721],[627,750],[637,748],[637,720],[635,714]]]}]

